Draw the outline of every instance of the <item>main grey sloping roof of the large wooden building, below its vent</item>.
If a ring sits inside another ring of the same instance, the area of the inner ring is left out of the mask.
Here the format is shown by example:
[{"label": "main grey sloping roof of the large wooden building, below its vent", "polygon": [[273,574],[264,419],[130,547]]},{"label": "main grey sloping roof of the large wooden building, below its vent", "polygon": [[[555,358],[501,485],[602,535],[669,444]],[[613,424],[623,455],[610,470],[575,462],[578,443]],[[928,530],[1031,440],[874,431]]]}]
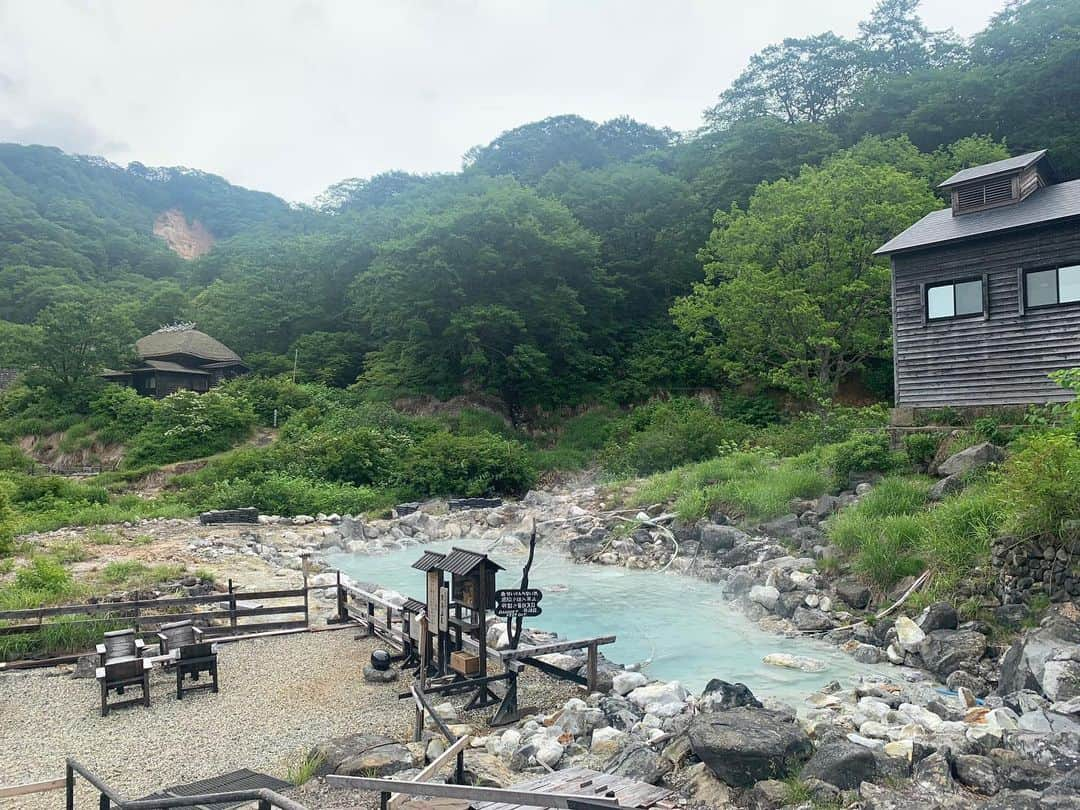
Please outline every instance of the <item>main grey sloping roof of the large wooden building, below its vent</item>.
[{"label": "main grey sloping roof of the large wooden building, below its vent", "polygon": [[931,212],[877,248],[874,255],[914,251],[1070,217],[1080,217],[1080,180],[1045,186],[1014,205],[959,217],[953,216],[951,208]]}]

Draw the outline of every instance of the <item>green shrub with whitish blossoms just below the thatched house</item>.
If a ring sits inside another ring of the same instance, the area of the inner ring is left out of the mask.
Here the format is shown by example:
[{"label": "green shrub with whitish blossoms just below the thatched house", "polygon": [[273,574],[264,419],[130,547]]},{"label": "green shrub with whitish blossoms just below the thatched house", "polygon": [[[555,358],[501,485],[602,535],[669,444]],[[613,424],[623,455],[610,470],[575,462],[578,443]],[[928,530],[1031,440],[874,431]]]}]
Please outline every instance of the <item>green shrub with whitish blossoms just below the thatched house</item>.
[{"label": "green shrub with whitish blossoms just below the thatched house", "polygon": [[246,400],[220,390],[179,391],[160,401],[125,464],[165,464],[221,453],[245,438],[254,424],[255,411]]}]

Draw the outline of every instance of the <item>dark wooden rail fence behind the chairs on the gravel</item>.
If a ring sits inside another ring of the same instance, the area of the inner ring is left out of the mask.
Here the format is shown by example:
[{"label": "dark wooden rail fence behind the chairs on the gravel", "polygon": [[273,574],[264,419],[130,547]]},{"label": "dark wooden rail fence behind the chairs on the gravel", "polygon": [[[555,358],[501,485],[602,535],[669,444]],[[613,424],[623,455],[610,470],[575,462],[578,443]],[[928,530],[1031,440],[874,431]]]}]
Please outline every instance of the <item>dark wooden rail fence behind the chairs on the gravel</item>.
[{"label": "dark wooden rail fence behind the chairs on the gravel", "polygon": [[[286,604],[253,604],[288,599]],[[199,609],[206,607],[207,609]],[[211,637],[245,635],[272,630],[307,627],[309,619],[308,588],[281,591],[237,591],[232,580],[225,593],[204,596],[174,596],[137,602],[102,602],[94,605],[59,605],[0,611],[0,636],[40,633],[50,626],[49,619],[81,617],[66,624],[91,624],[103,620],[135,627],[139,635],[149,635],[167,622],[191,619],[197,622],[227,619],[228,623],[208,624],[204,631]],[[271,617],[269,621],[262,620]],[[275,617],[288,617],[278,620]],[[251,621],[251,620],[255,621]],[[248,620],[248,621],[245,621]],[[89,651],[89,650],[87,650]],[[83,653],[84,654],[84,653]],[[79,654],[63,657],[75,660]],[[62,659],[50,659],[59,663]],[[44,662],[42,662],[44,663]]]}]

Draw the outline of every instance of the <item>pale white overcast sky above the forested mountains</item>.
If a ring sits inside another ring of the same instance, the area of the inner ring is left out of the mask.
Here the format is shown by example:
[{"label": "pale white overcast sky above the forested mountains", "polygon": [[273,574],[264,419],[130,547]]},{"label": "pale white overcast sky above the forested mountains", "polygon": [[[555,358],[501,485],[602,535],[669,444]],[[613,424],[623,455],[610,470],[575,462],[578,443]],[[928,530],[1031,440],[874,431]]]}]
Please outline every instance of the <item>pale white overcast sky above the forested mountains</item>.
[{"label": "pale white overcast sky above the forested mountains", "polygon": [[[691,130],[755,51],[875,0],[0,0],[0,141],[310,201],[546,116]],[[923,0],[980,30],[1003,0]]]}]

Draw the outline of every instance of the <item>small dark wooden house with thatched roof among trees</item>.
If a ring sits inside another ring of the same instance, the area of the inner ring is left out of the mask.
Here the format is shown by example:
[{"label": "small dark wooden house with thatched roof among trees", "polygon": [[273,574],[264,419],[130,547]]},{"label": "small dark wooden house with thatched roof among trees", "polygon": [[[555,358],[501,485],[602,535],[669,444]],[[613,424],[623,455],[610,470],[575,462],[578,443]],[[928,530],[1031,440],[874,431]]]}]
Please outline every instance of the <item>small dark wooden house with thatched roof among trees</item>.
[{"label": "small dark wooden house with thatched roof among trees", "polygon": [[194,324],[163,326],[135,342],[139,362],[132,368],[106,372],[103,377],[131,386],[144,396],[168,396],[176,391],[208,391],[248,368],[232,349],[199,332]]}]

